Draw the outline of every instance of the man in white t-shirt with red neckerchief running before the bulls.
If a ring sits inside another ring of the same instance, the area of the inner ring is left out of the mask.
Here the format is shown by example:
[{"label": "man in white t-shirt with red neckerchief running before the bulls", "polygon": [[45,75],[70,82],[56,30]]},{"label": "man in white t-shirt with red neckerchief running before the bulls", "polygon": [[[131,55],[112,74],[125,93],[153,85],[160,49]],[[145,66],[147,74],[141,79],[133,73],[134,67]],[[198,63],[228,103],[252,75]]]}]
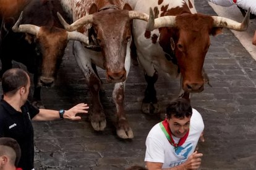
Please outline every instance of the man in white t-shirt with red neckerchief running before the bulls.
[{"label": "man in white t-shirt with red neckerchief running before the bulls", "polygon": [[166,119],[156,124],[146,140],[145,162],[151,169],[198,169],[202,153],[195,147],[203,132],[200,113],[186,99],[176,99],[166,108]]}]

